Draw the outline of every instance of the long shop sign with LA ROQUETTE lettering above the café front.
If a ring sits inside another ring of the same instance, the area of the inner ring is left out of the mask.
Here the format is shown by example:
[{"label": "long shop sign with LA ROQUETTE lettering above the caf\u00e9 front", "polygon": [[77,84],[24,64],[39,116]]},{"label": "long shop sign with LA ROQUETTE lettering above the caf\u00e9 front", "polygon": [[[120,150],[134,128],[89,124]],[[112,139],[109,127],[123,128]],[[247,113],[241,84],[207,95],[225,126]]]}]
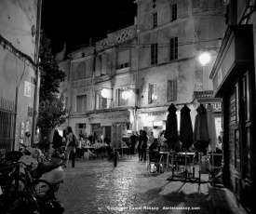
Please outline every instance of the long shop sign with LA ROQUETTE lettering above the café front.
[{"label": "long shop sign with LA ROQUETTE lettering above the caf\u00e9 front", "polygon": [[110,112],[101,114],[91,114],[89,116],[89,123],[117,123],[129,122],[130,113],[128,111]]}]

